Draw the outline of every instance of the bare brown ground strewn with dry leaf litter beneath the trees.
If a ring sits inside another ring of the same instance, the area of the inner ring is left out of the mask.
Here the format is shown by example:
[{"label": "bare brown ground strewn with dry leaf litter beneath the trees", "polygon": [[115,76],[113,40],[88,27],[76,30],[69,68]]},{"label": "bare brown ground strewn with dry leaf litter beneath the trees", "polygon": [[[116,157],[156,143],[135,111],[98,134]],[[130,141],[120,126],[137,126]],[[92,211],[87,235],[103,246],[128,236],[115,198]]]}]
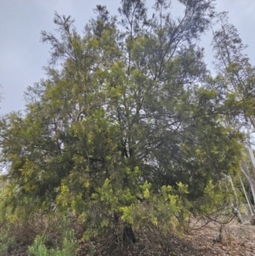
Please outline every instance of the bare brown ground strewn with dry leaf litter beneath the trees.
[{"label": "bare brown ground strewn with dry leaf litter beneath the trees", "polygon": [[[168,237],[164,241],[155,233],[152,237],[150,235],[146,242],[146,235],[140,234],[144,238],[134,244],[130,242],[124,251],[105,245],[107,249],[103,252],[102,243],[99,241],[93,244],[81,242],[78,255],[255,256],[255,225],[240,224],[237,220],[232,220],[223,225],[221,242],[218,242],[220,225],[210,223],[195,230],[199,226],[202,226],[202,223],[194,225],[194,230],[190,230],[189,234]],[[94,247],[94,253],[90,251],[91,247]],[[26,245],[20,244],[20,247],[11,250],[6,256],[25,256],[26,249]]]}]

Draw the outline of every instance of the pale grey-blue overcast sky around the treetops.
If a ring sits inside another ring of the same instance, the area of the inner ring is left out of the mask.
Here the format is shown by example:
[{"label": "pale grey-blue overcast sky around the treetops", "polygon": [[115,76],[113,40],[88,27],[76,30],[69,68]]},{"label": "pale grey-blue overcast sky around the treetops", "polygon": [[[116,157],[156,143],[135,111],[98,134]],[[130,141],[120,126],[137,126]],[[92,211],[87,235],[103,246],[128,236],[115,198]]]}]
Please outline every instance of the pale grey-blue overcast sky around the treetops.
[{"label": "pale grey-blue overcast sky around the treetops", "polygon": [[[173,3],[176,0],[173,0]],[[0,115],[24,109],[26,87],[45,78],[43,65],[49,59],[49,46],[40,43],[40,31],[54,31],[54,11],[71,15],[78,31],[93,17],[96,4],[106,5],[116,14],[120,0],[0,0]],[[152,6],[154,0],[147,0]],[[174,14],[181,12],[175,7]],[[229,21],[238,29],[246,54],[255,64],[255,0],[217,0],[218,11],[228,11]],[[211,38],[203,37],[205,47]],[[206,49],[212,61],[212,50]]]}]

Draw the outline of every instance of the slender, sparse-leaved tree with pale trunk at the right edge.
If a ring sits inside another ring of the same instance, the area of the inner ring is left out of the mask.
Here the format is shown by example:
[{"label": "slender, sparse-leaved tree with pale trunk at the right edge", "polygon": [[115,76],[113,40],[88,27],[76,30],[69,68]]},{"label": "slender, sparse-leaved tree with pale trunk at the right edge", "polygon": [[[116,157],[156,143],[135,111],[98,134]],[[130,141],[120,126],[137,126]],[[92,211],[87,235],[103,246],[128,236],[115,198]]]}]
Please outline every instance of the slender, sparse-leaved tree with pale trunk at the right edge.
[{"label": "slender, sparse-leaved tree with pale trunk at the right edge", "polygon": [[[246,130],[246,151],[244,152],[246,157],[241,162],[241,172],[246,177],[252,192],[252,200],[255,202],[255,162],[250,133],[250,128],[255,128],[253,114],[255,68],[244,54],[246,45],[242,43],[235,26],[229,24],[227,14],[218,14],[218,20],[220,29],[213,33],[212,42],[215,57],[218,60],[218,79],[222,81],[218,84],[218,89],[226,105],[234,111],[230,114],[232,126],[239,130]],[[243,185],[242,187],[244,188]],[[244,193],[246,194],[245,190]],[[250,204],[249,201],[248,204]],[[254,212],[251,207],[250,209],[253,219]]]}]

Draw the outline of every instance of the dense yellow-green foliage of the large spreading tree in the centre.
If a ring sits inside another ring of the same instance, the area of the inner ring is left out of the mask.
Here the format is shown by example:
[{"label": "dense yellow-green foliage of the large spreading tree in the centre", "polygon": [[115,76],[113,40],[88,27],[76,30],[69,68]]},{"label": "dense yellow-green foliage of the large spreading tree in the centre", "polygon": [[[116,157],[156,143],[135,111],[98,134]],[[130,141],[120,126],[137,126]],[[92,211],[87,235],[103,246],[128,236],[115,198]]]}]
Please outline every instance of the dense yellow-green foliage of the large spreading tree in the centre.
[{"label": "dense yellow-green foliage of the large spreading tree in the centre", "polygon": [[165,234],[228,202],[217,188],[239,172],[233,123],[253,110],[252,92],[230,94],[224,73],[207,70],[196,43],[217,15],[213,1],[178,2],[179,19],[167,0],[151,18],[142,0],[122,0],[119,21],[97,6],[82,35],[55,14],[59,34],[42,31],[48,79],[27,88],[26,111],[1,120],[2,219],[67,210],[84,239],[122,227],[135,242],[132,228]]}]

